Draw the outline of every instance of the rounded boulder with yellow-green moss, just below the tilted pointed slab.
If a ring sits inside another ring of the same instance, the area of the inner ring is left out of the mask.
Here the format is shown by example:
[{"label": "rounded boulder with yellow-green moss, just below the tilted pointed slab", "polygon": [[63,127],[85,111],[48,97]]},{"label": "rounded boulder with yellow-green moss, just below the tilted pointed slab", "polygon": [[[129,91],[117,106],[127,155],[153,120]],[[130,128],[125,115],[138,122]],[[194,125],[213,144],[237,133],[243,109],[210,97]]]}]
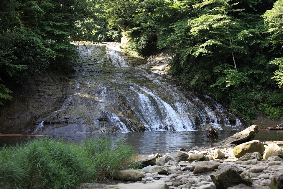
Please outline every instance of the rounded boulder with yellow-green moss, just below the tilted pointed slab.
[{"label": "rounded boulder with yellow-green moss, just below the tilted pointed slab", "polygon": [[264,144],[262,144],[262,142],[259,140],[253,140],[240,144],[236,146],[233,150],[233,154],[236,158],[240,158],[246,155],[246,153],[252,152],[259,152],[261,155],[263,155]]}]

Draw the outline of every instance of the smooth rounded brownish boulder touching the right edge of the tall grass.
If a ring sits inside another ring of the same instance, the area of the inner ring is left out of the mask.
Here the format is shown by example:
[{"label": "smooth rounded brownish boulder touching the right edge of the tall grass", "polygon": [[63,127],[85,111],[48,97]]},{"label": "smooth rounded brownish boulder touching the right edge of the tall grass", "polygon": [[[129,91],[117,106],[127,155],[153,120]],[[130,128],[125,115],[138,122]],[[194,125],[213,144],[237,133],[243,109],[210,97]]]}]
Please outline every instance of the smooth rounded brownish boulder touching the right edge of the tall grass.
[{"label": "smooth rounded brownish boulder touching the right edge of the tall grass", "polygon": [[143,175],[141,172],[132,169],[120,170],[113,175],[113,179],[123,181],[139,181],[142,177]]}]

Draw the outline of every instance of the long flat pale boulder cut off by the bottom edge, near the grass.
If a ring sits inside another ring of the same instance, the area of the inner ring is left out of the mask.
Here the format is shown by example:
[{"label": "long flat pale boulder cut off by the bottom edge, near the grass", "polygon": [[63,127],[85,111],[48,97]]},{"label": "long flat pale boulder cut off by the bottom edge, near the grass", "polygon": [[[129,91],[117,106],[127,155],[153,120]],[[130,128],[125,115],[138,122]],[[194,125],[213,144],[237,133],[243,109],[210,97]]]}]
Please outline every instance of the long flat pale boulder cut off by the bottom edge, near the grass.
[{"label": "long flat pale boulder cut off by the bottom edge, near the grass", "polygon": [[155,183],[130,183],[130,184],[117,184],[117,185],[109,185],[104,187],[103,189],[169,189],[169,187],[165,184],[165,182],[159,181]]}]

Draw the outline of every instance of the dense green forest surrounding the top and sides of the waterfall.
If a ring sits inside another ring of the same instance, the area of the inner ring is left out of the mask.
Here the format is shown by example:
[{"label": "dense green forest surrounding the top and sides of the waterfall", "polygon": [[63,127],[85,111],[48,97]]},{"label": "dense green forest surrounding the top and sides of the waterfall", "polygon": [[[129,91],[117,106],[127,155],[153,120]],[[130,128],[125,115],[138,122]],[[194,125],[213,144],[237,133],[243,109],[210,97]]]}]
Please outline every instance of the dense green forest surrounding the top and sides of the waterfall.
[{"label": "dense green forest surrounding the top and sides of the waterfall", "polygon": [[122,37],[244,120],[283,114],[283,0],[0,0],[0,105],[32,73],[71,73],[71,41]]}]

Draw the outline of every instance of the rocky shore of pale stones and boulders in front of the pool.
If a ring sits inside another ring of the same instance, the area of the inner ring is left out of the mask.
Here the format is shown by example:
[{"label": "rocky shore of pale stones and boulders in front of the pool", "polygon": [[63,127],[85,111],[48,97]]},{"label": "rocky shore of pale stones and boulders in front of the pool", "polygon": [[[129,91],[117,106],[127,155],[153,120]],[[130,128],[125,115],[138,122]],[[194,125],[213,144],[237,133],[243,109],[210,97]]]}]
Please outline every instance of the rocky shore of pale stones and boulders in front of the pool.
[{"label": "rocky shore of pale stones and boulders in front of the pool", "polygon": [[[256,128],[254,126],[253,130]],[[237,134],[243,135],[241,132]],[[169,154],[157,153],[139,160],[142,169],[119,171],[114,175],[114,182],[111,185],[85,183],[82,187],[280,189],[283,187],[282,155],[282,147],[273,143],[264,145],[258,140],[235,145],[181,148]]]}]

